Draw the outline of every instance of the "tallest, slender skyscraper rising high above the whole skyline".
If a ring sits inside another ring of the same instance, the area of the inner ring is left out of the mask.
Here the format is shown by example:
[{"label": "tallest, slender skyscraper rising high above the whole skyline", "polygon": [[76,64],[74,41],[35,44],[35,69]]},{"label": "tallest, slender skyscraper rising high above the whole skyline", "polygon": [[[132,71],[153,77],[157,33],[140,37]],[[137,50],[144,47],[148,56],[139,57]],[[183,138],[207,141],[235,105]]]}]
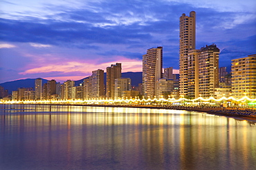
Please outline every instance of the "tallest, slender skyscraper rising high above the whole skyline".
[{"label": "tallest, slender skyscraper rising high above the whole skyline", "polygon": [[188,51],[196,48],[196,12],[181,15],[179,37],[180,95],[188,96]]}]

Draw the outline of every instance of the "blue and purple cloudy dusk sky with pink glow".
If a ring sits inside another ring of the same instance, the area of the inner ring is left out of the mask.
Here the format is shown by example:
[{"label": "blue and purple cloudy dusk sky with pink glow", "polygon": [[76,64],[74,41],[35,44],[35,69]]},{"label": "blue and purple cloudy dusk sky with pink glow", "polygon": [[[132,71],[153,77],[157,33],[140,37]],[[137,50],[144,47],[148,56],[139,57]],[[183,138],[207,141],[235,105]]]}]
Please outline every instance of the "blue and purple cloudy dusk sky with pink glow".
[{"label": "blue and purple cloudy dusk sky with pink glow", "polygon": [[216,44],[219,66],[256,54],[255,0],[1,0],[0,83],[79,80],[122,63],[142,72],[147,49],[179,72],[179,17],[196,12],[196,49]]}]

